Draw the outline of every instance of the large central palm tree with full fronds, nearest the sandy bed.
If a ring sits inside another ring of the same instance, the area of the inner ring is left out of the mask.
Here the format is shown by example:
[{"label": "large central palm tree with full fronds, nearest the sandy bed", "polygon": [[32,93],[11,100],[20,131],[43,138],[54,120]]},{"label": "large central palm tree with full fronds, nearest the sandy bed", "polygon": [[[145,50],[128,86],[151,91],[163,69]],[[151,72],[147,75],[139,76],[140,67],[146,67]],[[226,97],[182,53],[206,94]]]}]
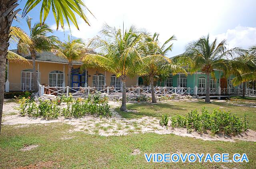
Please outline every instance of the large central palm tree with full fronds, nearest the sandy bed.
[{"label": "large central palm tree with full fronds, nearest the sandy bed", "polygon": [[126,79],[134,77],[140,71],[142,64],[139,42],[143,40],[144,33],[131,26],[128,30],[111,28],[108,25],[101,31],[103,38],[93,38],[89,45],[98,48],[103,55],[86,54],[84,62],[91,60],[98,63],[103,69],[114,73],[122,80],[122,106],[126,110]]}]

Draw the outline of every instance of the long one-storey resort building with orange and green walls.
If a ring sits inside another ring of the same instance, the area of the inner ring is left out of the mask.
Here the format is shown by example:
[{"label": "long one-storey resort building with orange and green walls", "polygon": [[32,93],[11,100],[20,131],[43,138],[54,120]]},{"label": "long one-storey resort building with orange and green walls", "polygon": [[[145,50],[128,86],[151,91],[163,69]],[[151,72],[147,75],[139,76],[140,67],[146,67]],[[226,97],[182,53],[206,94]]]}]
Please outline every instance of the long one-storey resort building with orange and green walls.
[{"label": "long one-storey resort building with orange and green walls", "polygon": [[[12,50],[17,52],[17,50]],[[30,55],[24,55],[30,63],[8,63],[6,92],[10,91],[25,91],[33,90],[32,84],[32,58]],[[79,87],[95,87],[96,79],[98,81],[98,88],[112,87],[116,92],[120,92],[122,88],[122,81],[116,75],[106,71],[98,71],[94,69],[80,70],[83,65],[80,61],[73,61],[73,69],[71,73],[70,88]],[[68,86],[68,61],[62,57],[58,57],[49,51],[43,51],[36,54],[36,71],[38,75],[38,82],[40,85],[50,87],[66,87]],[[98,76],[98,78],[96,78]],[[215,70],[215,77],[210,79],[210,94],[211,95],[228,95],[232,93],[242,93],[242,85],[234,87],[231,80],[233,76],[224,77],[221,71]],[[126,80],[126,87],[142,87],[148,88],[149,83],[144,77],[134,77]],[[206,75],[204,73],[188,73],[171,75],[165,81],[155,81],[154,86],[165,87],[166,93],[181,93],[205,95],[206,92]],[[240,90],[241,89],[241,90]],[[129,89],[128,89],[129,90]],[[148,91],[149,90],[145,90]],[[157,93],[156,93],[157,94]],[[163,94],[163,92],[162,92]]]}]

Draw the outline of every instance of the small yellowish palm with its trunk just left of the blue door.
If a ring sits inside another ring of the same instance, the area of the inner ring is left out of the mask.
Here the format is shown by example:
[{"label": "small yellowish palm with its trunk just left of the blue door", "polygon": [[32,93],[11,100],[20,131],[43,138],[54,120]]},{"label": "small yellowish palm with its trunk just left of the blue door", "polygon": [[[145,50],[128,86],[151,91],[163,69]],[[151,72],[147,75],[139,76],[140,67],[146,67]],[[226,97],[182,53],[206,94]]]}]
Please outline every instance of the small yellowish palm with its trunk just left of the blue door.
[{"label": "small yellowish palm with its trunk just left of the blue door", "polygon": [[87,53],[88,50],[82,39],[71,40],[70,36],[68,36],[68,41],[61,43],[59,47],[51,50],[55,55],[68,60],[68,86],[71,86],[70,79],[73,61],[81,60],[82,56]]}]

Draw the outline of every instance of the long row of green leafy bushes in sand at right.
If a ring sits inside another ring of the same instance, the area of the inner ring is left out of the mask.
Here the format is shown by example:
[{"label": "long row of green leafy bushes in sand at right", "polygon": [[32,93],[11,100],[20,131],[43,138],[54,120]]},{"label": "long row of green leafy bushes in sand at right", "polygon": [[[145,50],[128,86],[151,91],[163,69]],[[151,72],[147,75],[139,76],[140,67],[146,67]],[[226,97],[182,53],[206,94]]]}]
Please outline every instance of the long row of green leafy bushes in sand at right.
[{"label": "long row of green leafy bushes in sand at right", "polygon": [[248,129],[248,119],[238,118],[236,114],[231,114],[230,111],[213,110],[209,112],[205,107],[202,108],[202,113],[197,110],[192,110],[186,116],[177,115],[171,118],[171,126],[187,128],[197,132],[205,132],[210,130],[213,134],[238,134]]}]

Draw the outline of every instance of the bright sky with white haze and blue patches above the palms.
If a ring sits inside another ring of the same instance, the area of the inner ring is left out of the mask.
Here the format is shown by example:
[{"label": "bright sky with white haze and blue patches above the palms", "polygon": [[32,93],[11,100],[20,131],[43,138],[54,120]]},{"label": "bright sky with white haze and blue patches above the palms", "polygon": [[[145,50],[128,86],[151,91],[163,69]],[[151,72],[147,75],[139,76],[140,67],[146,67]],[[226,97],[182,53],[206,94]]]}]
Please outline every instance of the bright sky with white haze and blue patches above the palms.
[{"label": "bright sky with white haze and blue patches above the palms", "polygon": [[[256,45],[256,1],[255,0],[84,0],[86,6],[95,18],[85,10],[90,25],[78,18],[80,31],[71,26],[72,38],[90,39],[100,35],[103,24],[116,28],[129,28],[131,25],[144,28],[150,33],[158,32],[160,43],[164,43],[172,35],[173,49],[168,57],[184,52],[185,45],[204,35],[210,34],[210,39],[227,40],[227,47],[248,48]],[[19,2],[23,9],[26,0]],[[28,16],[32,22],[39,21],[41,4],[38,4]],[[21,14],[21,12],[20,12]],[[56,30],[55,20],[49,15],[46,23]],[[14,21],[12,26],[18,26],[28,33],[25,19]],[[60,40],[67,39],[68,27],[54,31]],[[11,44],[10,49],[16,48]]]}]

